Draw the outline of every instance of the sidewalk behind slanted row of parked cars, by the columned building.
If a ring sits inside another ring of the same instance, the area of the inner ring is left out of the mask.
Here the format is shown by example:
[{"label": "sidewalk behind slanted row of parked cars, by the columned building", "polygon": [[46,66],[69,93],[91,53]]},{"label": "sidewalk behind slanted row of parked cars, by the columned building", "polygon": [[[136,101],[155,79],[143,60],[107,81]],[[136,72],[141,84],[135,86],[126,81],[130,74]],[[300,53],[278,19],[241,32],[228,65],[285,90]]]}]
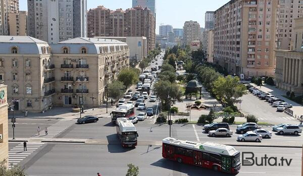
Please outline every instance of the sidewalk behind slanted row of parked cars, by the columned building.
[{"label": "sidewalk behind slanted row of parked cars, by the columned building", "polygon": [[291,104],[292,105],[291,110],[293,111],[294,117],[303,115],[303,106],[302,105],[297,104],[297,103],[283,97],[283,96],[286,96],[286,91],[277,89],[275,86],[271,86],[271,85],[267,85],[267,84],[264,84],[263,86],[261,86],[261,89],[260,89],[260,86],[257,86],[257,84],[254,84],[254,83],[250,83],[250,84],[253,86],[256,86],[259,90],[261,90],[263,92],[272,94],[272,95],[276,96],[277,98],[284,100],[285,102]]}]

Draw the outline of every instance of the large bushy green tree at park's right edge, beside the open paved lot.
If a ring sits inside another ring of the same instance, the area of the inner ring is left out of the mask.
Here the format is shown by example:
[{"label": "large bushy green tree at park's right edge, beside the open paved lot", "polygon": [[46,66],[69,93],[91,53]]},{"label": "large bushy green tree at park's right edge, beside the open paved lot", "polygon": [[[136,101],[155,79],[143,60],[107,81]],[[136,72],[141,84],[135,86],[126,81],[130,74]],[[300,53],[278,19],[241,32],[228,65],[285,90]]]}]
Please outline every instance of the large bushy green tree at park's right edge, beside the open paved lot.
[{"label": "large bushy green tree at park's right edge, beside the open paved lot", "polygon": [[238,102],[238,98],[247,94],[246,87],[243,84],[239,84],[239,77],[218,77],[214,82],[213,92],[217,95],[221,102],[224,102],[228,106],[232,106]]}]

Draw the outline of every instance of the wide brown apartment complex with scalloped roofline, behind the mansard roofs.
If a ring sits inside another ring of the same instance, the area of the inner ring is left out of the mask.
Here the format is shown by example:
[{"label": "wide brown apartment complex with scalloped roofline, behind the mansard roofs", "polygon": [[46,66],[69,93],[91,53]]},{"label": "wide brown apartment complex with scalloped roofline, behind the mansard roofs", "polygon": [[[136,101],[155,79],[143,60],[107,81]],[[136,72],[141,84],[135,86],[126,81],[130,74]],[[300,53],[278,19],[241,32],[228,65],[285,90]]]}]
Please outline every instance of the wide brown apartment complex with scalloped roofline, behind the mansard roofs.
[{"label": "wide brown apartment complex with scalloped roofline, behind the mansard roofs", "polygon": [[149,9],[135,7],[111,11],[103,6],[87,13],[89,37],[146,37],[147,49],[155,48],[156,22]]}]

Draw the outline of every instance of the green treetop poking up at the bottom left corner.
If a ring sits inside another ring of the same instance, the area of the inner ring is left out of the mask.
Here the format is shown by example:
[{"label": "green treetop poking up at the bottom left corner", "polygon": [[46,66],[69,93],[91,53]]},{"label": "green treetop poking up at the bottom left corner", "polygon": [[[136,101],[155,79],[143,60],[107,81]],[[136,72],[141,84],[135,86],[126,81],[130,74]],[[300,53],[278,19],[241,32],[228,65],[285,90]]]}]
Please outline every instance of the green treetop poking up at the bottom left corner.
[{"label": "green treetop poking up at the bottom left corner", "polygon": [[3,176],[24,176],[27,175],[25,169],[20,165],[14,165],[11,169],[7,168],[7,160],[0,162],[0,175]]}]

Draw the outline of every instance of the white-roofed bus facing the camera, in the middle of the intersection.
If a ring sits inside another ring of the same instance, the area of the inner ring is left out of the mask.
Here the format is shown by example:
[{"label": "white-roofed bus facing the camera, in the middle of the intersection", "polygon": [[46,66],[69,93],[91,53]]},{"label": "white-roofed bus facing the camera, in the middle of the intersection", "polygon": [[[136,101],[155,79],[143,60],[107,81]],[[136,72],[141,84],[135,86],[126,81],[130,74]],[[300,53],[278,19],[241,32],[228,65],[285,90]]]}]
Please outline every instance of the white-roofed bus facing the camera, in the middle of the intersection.
[{"label": "white-roofed bus facing the camera, in the middle of the intersection", "polygon": [[132,121],[127,118],[118,118],[116,130],[122,147],[134,147],[137,145],[137,137],[139,135]]}]

